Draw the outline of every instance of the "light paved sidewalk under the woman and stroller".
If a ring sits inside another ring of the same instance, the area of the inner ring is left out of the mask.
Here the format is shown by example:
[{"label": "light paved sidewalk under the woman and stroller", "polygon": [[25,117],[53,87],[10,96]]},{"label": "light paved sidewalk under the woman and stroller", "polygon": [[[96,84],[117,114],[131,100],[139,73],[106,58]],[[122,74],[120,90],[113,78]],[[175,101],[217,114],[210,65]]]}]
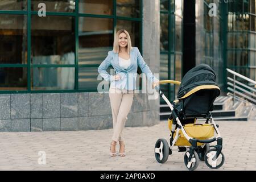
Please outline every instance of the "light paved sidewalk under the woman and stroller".
[{"label": "light paved sidewalk under the woman and stroller", "polygon": [[[256,121],[218,121],[224,165],[217,170],[256,170]],[[109,156],[112,129],[0,133],[0,170],[187,170],[184,152],[174,151],[156,162],[155,142],[168,140],[167,122],[151,127],[126,127],[126,157]],[[119,146],[117,146],[118,150]],[[39,151],[46,164],[39,164]],[[200,162],[197,170],[212,170]]]}]

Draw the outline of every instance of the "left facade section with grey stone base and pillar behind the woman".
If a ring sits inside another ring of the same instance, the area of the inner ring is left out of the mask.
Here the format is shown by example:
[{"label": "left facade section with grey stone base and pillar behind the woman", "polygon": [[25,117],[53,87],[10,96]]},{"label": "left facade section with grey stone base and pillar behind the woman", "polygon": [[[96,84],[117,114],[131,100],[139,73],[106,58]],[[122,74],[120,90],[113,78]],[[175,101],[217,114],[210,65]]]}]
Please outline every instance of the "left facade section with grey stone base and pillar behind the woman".
[{"label": "left facade section with grey stone base and pillar behind the woman", "polygon": [[[97,68],[125,28],[159,73],[159,12],[159,2],[147,0],[1,1],[0,131],[111,128]],[[159,98],[135,94],[126,126],[156,123]]]}]

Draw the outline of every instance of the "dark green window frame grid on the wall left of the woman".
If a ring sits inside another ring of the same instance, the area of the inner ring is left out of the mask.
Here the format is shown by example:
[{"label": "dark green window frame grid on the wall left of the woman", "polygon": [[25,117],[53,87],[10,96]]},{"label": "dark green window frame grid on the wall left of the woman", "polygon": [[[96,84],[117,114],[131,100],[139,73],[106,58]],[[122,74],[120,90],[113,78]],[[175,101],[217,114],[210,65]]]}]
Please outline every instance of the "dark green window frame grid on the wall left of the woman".
[{"label": "dark green window frame grid on the wall left of the woman", "polygon": [[[143,55],[143,44],[142,44],[142,17],[143,17],[143,1],[139,0],[140,6],[140,17],[131,18],[126,16],[117,15],[117,0],[113,0],[113,15],[97,15],[97,14],[86,14],[79,13],[79,0],[75,0],[75,11],[73,13],[65,12],[49,12],[46,11],[47,15],[56,16],[72,16],[75,18],[75,64],[31,64],[31,15],[37,15],[38,11],[31,11],[31,0],[27,0],[27,10],[0,10],[1,14],[12,14],[12,15],[26,15],[27,16],[27,64],[0,64],[0,68],[27,68],[27,90],[0,90],[0,93],[79,93],[79,92],[97,92],[95,89],[79,89],[79,68],[92,68],[98,67],[100,64],[80,64],[78,63],[79,54],[79,18],[90,17],[90,18],[109,18],[113,19],[113,31],[116,31],[117,20],[130,20],[133,22],[139,22],[140,32],[139,47]],[[113,34],[114,36],[114,34]],[[107,55],[106,55],[107,56]],[[102,60],[103,61],[103,60]],[[75,68],[75,89],[73,90],[31,90],[31,69],[32,68]]]}]

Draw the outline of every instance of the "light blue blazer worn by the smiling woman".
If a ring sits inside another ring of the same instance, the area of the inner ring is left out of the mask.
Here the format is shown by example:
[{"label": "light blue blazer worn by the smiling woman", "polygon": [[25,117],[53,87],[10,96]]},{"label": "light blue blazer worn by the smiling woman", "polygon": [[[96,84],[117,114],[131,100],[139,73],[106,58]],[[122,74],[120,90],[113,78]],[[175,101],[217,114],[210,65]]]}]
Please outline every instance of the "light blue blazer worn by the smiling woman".
[{"label": "light blue blazer worn by the smiling woman", "polygon": [[[152,75],[150,68],[143,60],[141,53],[137,47],[133,47],[130,51],[130,60],[131,64],[127,69],[120,67],[118,64],[118,53],[114,51],[109,51],[106,59],[101,63],[100,67],[98,67],[98,73],[100,73],[101,77],[106,81],[110,81],[111,85],[114,85],[115,88],[118,89],[127,89],[127,90],[135,90],[136,89],[136,77],[137,77],[137,69],[138,65],[141,68],[142,72],[146,74],[148,80],[150,82],[158,81],[158,79]],[[114,80],[113,75],[109,75],[106,71],[110,65],[115,70],[115,74],[121,76],[119,81]]]}]

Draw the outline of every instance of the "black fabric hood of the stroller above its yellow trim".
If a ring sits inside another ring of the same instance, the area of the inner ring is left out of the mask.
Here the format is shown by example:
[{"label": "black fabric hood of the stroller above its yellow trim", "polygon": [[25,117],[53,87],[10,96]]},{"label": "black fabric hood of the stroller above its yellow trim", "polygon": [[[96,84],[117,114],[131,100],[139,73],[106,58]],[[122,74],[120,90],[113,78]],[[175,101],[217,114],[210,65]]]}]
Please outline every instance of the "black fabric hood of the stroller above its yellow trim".
[{"label": "black fabric hood of the stroller above its yellow trim", "polygon": [[181,80],[177,98],[183,97],[190,90],[200,85],[216,85],[216,74],[207,64],[197,65],[189,70]]}]

